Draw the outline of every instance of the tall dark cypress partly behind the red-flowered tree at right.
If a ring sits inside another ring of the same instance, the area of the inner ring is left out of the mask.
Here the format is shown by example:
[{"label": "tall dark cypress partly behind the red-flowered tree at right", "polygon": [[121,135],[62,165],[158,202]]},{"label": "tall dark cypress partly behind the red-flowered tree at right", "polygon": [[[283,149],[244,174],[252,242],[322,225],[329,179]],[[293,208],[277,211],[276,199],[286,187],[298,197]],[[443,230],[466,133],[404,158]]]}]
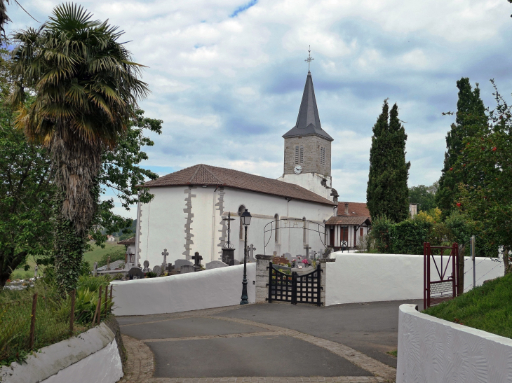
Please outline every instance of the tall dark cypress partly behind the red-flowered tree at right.
[{"label": "tall dark cypress partly behind the red-flowered tree at right", "polygon": [[469,78],[463,77],[457,81],[457,88],[459,89],[457,115],[455,123],[446,135],[447,151],[436,194],[436,204],[443,211],[443,216],[450,215],[450,211],[455,207],[459,183],[467,183],[464,173],[454,172],[454,165],[461,155],[464,139],[473,137],[476,127],[487,124],[485,106],[480,99],[478,83],[472,90]]}]

